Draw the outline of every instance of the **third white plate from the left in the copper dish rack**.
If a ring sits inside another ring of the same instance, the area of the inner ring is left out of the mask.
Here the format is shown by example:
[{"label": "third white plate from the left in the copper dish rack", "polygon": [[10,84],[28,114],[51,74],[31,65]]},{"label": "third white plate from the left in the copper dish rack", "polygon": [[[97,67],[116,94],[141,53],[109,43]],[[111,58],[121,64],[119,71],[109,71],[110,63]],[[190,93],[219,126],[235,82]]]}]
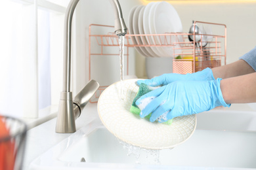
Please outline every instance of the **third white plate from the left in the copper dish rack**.
[{"label": "third white plate from the left in the copper dish rack", "polygon": [[[144,35],[144,27],[143,27],[143,14],[145,10],[145,6],[140,10],[139,19],[138,19],[138,27],[139,27],[139,34]],[[145,36],[141,36],[140,40],[142,41],[142,44],[148,45],[148,41],[146,40]],[[156,57],[156,53],[150,48],[150,46],[142,46],[141,48],[144,48],[148,52],[148,57]]]}]

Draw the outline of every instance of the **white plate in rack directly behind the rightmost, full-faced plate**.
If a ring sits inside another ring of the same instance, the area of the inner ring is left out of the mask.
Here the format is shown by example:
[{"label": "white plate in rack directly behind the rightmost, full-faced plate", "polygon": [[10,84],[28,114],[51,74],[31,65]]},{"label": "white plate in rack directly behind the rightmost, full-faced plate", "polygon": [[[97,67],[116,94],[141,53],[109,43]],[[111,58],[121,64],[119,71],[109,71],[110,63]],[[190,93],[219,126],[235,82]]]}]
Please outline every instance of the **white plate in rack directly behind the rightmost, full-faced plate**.
[{"label": "white plate in rack directly behind the rightmost, full-faced plate", "polygon": [[[149,24],[149,14],[150,14],[150,10],[152,7],[154,7],[154,5],[156,5],[156,3],[149,3],[148,5],[146,5],[146,8],[144,9],[144,13],[143,13],[143,28],[144,28],[144,33],[150,34],[150,24]],[[152,38],[152,36],[146,36],[146,40],[148,41],[148,44],[155,44],[154,39]],[[158,47],[156,46],[149,46],[154,53],[156,54],[155,57],[161,57],[159,55],[159,50]]]}]

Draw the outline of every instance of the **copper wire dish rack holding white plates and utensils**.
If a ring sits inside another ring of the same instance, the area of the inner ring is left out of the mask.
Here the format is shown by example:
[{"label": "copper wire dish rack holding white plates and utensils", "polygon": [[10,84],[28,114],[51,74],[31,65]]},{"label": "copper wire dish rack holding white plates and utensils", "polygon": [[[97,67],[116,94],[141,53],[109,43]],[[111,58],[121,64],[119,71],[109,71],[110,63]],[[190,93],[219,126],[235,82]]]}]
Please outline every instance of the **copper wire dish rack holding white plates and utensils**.
[{"label": "copper wire dish rack holding white plates and utensils", "polygon": [[[211,22],[194,22],[194,30],[196,24],[217,25],[224,30],[224,35],[219,34],[196,34],[194,33],[163,33],[163,34],[129,34],[125,35],[125,47],[127,48],[124,56],[127,56],[127,75],[129,75],[129,48],[136,47],[149,47],[149,46],[173,46],[173,73],[186,74],[194,73],[196,71],[202,71],[206,67],[219,67],[226,65],[226,25],[217,24]],[[119,56],[119,53],[108,54],[104,52],[104,47],[117,46],[119,49],[118,36],[114,32],[108,32],[106,34],[93,34],[95,27],[113,27],[112,25],[89,25],[89,80],[91,80],[91,57],[92,56]],[[114,29],[113,29],[114,30]],[[188,36],[200,36],[201,41],[189,41]],[[202,41],[203,36],[209,36],[211,41]],[[96,40],[96,44],[100,46],[100,52],[92,52],[92,39]],[[141,40],[140,43],[138,40]],[[147,41],[151,39],[153,41]],[[207,47],[203,47],[200,44],[207,43]],[[119,50],[117,50],[119,52]],[[179,56],[179,58],[177,58]],[[95,99],[90,103],[96,103],[100,93],[104,91],[108,86],[100,86],[98,92],[95,93]]]}]

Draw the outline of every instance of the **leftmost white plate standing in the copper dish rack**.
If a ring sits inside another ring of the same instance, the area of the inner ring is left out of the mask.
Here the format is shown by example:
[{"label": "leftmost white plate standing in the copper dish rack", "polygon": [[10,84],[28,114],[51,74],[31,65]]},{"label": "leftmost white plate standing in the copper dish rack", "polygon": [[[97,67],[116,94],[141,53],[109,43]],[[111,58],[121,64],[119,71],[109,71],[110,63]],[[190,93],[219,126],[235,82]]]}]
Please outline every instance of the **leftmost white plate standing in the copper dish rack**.
[{"label": "leftmost white plate standing in the copper dish rack", "polygon": [[[131,11],[129,12],[129,18],[128,18],[128,21],[129,21],[129,33],[130,34],[134,34],[134,31],[133,31],[133,16],[135,15],[135,12],[137,9],[139,9],[140,7],[142,7],[142,5],[137,5],[135,7],[133,7],[133,9],[131,9]],[[137,41],[135,39],[134,36],[131,36],[131,39],[133,41],[134,44],[137,44]],[[147,56],[141,49],[139,46],[135,46],[135,49],[140,53],[142,54],[143,56]]]}]

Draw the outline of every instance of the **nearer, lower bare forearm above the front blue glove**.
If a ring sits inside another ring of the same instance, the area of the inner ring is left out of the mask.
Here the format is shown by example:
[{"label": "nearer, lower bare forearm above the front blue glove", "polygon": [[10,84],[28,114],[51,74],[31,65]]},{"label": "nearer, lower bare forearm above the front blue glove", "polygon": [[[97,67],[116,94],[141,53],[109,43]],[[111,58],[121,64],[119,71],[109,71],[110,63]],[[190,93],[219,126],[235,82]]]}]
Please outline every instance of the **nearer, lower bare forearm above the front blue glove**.
[{"label": "nearer, lower bare forearm above the front blue glove", "polygon": [[226,103],[256,102],[256,73],[221,80],[221,92]]}]

